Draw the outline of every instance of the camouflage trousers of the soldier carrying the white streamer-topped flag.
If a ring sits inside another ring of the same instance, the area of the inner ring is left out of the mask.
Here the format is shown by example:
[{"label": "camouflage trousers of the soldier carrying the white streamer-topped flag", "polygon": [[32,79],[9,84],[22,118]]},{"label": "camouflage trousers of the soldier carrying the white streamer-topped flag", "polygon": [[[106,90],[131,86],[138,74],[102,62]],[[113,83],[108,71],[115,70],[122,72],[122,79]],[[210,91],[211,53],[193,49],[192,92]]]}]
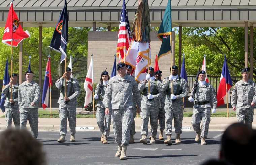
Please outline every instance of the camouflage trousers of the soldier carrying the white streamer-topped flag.
[{"label": "camouflage trousers of the soldier carrying the white streamer-topped flag", "polygon": [[141,130],[140,134],[148,136],[148,125],[150,120],[151,136],[156,136],[159,105],[141,105]]}]

